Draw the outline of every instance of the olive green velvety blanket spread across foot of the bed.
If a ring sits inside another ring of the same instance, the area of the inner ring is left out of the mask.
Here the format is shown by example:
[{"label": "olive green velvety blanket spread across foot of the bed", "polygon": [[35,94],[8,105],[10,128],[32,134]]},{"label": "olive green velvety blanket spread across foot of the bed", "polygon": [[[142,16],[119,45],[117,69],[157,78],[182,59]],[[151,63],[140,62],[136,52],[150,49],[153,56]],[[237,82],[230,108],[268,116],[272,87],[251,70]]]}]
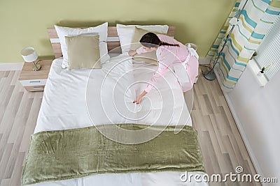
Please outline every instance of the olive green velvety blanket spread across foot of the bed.
[{"label": "olive green velvety blanket spread across foot of the bed", "polygon": [[[110,130],[112,125],[103,125]],[[141,130],[147,125],[120,124]],[[116,127],[116,125],[114,126]],[[151,126],[149,130],[158,130]],[[190,126],[174,134],[174,126],[143,144],[120,144],[96,127],[38,132],[31,135],[22,185],[81,178],[100,173],[202,171],[197,131]]]}]

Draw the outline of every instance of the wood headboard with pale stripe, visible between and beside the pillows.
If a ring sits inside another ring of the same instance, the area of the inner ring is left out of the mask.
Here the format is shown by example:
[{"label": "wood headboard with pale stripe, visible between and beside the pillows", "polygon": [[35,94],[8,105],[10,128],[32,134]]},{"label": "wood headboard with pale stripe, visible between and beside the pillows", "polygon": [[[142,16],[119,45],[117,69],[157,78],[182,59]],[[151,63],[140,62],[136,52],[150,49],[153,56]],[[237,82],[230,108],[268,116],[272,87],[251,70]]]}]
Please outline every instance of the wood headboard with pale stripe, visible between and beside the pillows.
[{"label": "wood headboard with pale stripe, visible between and beside the pillows", "polygon": [[[175,26],[169,26],[167,36],[174,36]],[[48,36],[50,37],[50,42],[52,43],[52,49],[55,53],[55,58],[62,56],[62,50],[59,43],[59,38],[57,36],[57,31],[55,28],[48,28]],[[108,26],[108,40],[107,40],[108,51],[113,51],[113,53],[121,53],[120,51],[120,40],[118,38],[118,32],[116,26]],[[113,50],[114,49],[114,50]]]}]

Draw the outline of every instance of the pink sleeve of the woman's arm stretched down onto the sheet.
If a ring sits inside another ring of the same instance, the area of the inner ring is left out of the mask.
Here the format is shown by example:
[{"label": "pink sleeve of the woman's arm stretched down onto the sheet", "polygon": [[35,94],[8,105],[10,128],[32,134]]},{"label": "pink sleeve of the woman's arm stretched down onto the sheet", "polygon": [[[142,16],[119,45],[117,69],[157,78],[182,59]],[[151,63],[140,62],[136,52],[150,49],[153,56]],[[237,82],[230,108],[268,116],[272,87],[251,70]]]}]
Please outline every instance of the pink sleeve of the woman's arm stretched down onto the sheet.
[{"label": "pink sleeve of the woman's arm stretched down onto the sheet", "polygon": [[150,92],[153,87],[158,84],[158,82],[160,82],[160,79],[165,76],[167,70],[167,65],[165,65],[165,63],[159,62],[158,70],[153,74],[153,77],[151,77],[151,80],[145,89],[147,93]]}]

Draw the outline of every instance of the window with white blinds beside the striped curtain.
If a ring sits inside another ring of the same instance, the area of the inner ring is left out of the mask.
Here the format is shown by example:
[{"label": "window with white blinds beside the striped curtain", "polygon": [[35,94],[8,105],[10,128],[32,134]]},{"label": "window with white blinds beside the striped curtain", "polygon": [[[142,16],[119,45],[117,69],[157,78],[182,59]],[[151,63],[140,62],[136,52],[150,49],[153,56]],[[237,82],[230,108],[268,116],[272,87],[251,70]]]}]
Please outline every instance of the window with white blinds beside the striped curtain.
[{"label": "window with white blinds beside the striped curtain", "polygon": [[280,70],[280,17],[269,29],[257,52],[255,62],[260,70],[265,67],[265,78],[269,81]]}]

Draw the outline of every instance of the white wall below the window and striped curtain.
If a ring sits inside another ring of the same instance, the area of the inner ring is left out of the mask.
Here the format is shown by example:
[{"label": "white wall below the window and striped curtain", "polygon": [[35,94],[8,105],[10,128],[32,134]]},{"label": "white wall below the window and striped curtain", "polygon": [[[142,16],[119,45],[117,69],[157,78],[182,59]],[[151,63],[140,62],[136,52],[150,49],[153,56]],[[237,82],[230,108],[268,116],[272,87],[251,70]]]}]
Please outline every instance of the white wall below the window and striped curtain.
[{"label": "white wall below the window and striped curtain", "polygon": [[277,177],[279,184],[280,72],[260,87],[253,72],[246,68],[235,88],[228,93],[228,98],[258,173]]}]

